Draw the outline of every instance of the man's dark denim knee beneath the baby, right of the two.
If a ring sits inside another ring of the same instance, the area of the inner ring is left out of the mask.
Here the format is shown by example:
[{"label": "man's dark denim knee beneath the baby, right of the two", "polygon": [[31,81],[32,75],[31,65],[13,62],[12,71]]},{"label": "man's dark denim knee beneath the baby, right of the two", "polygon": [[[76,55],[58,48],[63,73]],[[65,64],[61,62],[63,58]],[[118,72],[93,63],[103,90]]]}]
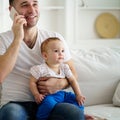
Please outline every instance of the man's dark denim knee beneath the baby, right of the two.
[{"label": "man's dark denim knee beneath the baby, right of the two", "polygon": [[[62,118],[61,118],[62,117]],[[59,119],[60,118],[60,119]],[[84,120],[84,111],[69,103],[59,103],[53,109],[49,120]]]}]

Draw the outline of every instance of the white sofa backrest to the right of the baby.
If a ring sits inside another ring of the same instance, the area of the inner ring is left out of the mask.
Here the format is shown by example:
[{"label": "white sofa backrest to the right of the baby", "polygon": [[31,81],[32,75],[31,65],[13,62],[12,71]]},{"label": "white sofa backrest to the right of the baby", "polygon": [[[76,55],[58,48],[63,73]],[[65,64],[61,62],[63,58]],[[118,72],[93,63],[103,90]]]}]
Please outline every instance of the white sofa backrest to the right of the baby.
[{"label": "white sofa backrest to the right of the baby", "polygon": [[120,80],[120,48],[79,49],[71,54],[85,105],[112,103]]}]

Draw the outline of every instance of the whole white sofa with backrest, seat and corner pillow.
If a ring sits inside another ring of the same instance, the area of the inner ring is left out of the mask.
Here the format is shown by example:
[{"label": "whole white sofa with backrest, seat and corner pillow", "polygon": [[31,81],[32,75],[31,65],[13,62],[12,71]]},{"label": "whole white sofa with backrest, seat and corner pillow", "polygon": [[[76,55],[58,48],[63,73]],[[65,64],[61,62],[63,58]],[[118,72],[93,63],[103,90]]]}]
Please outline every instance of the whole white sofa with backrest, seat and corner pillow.
[{"label": "whole white sofa with backrest, seat and corner pillow", "polygon": [[102,118],[96,120],[120,120],[120,47],[71,53],[86,96],[85,112]]}]

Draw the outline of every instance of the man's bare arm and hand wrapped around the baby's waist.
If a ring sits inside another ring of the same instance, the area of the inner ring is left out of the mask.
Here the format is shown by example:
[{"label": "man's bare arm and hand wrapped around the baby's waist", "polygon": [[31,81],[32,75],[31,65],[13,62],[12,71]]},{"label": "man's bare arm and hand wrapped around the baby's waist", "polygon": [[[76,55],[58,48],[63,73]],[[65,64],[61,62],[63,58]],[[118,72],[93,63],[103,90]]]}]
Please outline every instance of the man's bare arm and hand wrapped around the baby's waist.
[{"label": "man's bare arm and hand wrapped around the baby's waist", "polygon": [[[67,61],[66,64],[69,65],[73,75],[77,78],[75,67],[72,59]],[[38,80],[38,89],[42,94],[52,94],[58,90],[65,89],[69,86],[67,79],[58,79],[58,78],[40,78]]]}]

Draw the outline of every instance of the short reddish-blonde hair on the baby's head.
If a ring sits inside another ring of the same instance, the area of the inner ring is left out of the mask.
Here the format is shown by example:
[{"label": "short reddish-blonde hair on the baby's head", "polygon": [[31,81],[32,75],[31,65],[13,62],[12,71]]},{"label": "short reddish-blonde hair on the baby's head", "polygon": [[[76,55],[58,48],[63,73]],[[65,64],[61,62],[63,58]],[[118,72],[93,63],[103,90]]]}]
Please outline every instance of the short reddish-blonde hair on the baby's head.
[{"label": "short reddish-blonde hair on the baby's head", "polygon": [[49,37],[41,44],[41,53],[47,52],[47,46],[52,41],[61,41],[58,37]]}]

